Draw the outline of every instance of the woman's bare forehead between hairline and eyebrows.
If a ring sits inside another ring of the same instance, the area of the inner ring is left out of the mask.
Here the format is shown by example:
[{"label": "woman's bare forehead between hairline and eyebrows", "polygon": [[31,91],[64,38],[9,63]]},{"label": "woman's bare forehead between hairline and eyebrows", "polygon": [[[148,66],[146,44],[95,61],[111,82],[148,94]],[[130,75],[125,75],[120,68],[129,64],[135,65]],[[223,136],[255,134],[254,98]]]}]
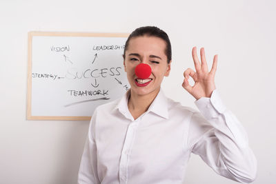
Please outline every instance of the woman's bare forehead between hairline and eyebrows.
[{"label": "woman's bare forehead between hairline and eyebrows", "polygon": [[135,52],[139,54],[159,54],[165,56],[166,42],[159,37],[134,37],[128,43],[126,52]]}]

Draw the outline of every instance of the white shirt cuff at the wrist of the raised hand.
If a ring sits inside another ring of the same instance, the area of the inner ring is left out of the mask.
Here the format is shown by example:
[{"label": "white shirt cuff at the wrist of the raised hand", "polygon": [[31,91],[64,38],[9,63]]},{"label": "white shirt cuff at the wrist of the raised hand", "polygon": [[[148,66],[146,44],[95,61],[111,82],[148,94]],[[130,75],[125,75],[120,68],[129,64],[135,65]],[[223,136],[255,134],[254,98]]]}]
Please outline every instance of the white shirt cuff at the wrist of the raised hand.
[{"label": "white shirt cuff at the wrist of the raised hand", "polygon": [[222,103],[217,90],[213,90],[210,98],[201,97],[195,101],[195,105],[207,120],[215,118],[226,111],[226,106]]}]

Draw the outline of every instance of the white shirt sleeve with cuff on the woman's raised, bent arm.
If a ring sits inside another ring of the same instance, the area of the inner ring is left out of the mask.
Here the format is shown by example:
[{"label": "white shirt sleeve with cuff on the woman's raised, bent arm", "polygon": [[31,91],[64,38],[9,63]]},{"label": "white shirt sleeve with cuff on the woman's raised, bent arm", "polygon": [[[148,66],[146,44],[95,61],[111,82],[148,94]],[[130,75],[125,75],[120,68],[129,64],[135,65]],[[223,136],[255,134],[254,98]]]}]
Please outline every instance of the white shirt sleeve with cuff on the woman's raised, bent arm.
[{"label": "white shirt sleeve with cuff on the woman's raised, bent arm", "polygon": [[241,183],[255,180],[257,161],[248,146],[244,127],[226,109],[217,90],[195,101],[199,112],[191,117],[188,145],[217,174]]}]

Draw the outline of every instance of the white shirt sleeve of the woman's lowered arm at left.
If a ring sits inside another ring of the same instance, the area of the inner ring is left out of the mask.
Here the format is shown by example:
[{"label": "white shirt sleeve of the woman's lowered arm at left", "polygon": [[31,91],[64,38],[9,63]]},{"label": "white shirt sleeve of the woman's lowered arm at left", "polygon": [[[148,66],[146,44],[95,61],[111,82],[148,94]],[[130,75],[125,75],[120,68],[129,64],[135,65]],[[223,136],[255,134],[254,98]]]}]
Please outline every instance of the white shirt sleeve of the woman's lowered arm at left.
[{"label": "white shirt sleeve of the woman's lowered arm at left", "polygon": [[97,173],[97,146],[95,143],[95,119],[96,110],[90,121],[88,137],[84,145],[81,164],[79,166],[78,184],[98,184],[99,178]]}]

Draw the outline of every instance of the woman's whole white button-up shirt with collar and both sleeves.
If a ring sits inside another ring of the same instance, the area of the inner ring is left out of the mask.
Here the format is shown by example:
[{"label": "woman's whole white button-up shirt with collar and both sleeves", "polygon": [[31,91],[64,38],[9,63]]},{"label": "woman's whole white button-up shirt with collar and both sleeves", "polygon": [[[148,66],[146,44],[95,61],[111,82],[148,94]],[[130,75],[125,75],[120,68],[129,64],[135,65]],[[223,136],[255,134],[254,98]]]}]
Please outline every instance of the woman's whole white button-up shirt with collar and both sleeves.
[{"label": "woman's whole white button-up shirt with collar and both sleeves", "polygon": [[246,132],[213,91],[195,101],[200,112],[160,90],[148,110],[133,119],[126,92],[100,105],[90,121],[78,183],[183,183],[190,154],[221,176],[249,183],[257,162]]}]

